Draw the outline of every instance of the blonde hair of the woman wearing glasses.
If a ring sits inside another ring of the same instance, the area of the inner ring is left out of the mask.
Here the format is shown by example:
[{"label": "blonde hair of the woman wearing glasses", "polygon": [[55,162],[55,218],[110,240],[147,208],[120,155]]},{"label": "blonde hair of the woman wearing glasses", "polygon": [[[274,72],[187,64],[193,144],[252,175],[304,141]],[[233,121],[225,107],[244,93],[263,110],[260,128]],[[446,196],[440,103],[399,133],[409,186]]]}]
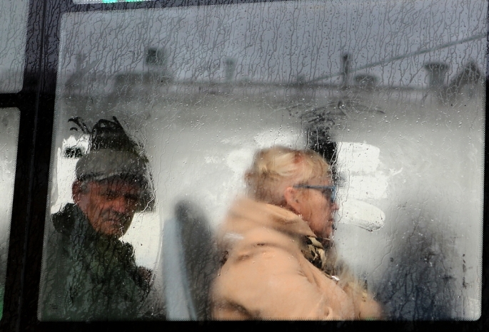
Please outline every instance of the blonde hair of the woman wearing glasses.
[{"label": "blonde hair of the woman wearing glasses", "polygon": [[327,177],[331,177],[331,169],[317,152],[282,146],[258,150],[245,173],[248,196],[278,206],[285,206],[286,187]]}]

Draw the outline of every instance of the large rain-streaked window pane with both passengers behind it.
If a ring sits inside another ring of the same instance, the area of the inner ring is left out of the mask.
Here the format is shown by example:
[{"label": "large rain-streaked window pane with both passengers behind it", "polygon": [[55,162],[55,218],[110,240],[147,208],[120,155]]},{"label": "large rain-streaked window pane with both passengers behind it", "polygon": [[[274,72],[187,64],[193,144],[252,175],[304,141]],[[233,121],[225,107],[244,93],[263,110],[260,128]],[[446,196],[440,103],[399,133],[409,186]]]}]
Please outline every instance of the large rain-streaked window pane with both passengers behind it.
[{"label": "large rain-streaked window pane with both passengers behind it", "polygon": [[[41,321],[478,319],[486,14],[471,0],[64,14]],[[260,162],[291,153],[309,175],[256,185]],[[255,214],[276,237],[251,232]],[[239,265],[246,243],[261,255]]]}]

